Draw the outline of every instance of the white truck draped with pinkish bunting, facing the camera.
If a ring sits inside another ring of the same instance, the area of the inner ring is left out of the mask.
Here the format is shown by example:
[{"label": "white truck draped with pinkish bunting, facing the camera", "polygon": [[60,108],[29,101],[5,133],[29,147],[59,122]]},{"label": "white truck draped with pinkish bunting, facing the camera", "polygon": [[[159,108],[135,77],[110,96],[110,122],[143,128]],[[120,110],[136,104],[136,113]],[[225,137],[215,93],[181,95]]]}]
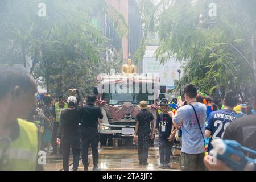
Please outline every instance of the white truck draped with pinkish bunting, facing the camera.
[{"label": "white truck draped with pinkish bunting, facing the camera", "polygon": [[140,101],[144,100],[151,106],[149,110],[156,119],[158,101],[164,98],[166,92],[165,86],[160,86],[159,81],[159,77],[154,75],[98,76],[98,87],[94,88],[94,94],[98,96],[97,105],[104,115],[98,127],[102,146],[107,143],[111,145],[113,137],[133,141]]}]

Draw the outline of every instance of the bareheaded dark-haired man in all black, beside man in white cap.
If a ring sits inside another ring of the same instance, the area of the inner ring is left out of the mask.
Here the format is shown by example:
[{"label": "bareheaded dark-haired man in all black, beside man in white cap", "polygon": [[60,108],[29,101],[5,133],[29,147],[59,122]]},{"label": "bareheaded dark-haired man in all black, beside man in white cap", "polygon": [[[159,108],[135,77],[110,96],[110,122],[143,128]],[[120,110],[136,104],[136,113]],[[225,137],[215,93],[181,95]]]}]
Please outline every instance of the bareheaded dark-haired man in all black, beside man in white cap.
[{"label": "bareheaded dark-haired man in all black, beside man in white cap", "polygon": [[93,170],[98,168],[98,142],[100,134],[98,133],[99,119],[103,118],[100,107],[95,106],[97,97],[94,94],[87,96],[87,104],[81,111],[81,136],[82,136],[82,163],[84,170],[88,170],[88,149],[91,144],[93,156]]}]

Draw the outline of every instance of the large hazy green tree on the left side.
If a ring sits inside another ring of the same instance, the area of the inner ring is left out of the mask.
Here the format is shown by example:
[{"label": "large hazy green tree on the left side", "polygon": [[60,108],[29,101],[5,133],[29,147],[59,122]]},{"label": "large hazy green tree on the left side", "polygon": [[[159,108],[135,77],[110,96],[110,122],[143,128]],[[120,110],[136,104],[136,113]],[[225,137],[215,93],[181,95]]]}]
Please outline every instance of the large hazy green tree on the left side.
[{"label": "large hazy green tree on the left side", "polygon": [[[39,3],[46,4],[45,17],[38,16]],[[94,70],[104,67],[110,40],[93,26],[94,16],[108,14],[120,38],[127,34],[123,16],[104,0],[3,0],[0,7],[0,64],[22,64],[56,94],[72,86],[89,92],[97,83]]]}]

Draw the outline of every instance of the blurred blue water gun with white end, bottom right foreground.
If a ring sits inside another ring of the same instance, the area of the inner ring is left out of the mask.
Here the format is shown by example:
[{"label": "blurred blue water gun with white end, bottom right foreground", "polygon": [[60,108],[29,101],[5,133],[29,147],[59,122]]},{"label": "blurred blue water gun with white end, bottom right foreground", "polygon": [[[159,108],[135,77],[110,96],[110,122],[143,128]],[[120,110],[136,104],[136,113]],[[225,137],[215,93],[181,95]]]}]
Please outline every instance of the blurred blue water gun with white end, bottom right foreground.
[{"label": "blurred blue water gun with white end, bottom right foreground", "polygon": [[256,159],[249,158],[246,154],[256,156],[256,151],[241,146],[234,140],[222,140],[220,138],[212,140],[213,154],[217,154],[217,159],[222,160],[233,170],[256,171]]}]

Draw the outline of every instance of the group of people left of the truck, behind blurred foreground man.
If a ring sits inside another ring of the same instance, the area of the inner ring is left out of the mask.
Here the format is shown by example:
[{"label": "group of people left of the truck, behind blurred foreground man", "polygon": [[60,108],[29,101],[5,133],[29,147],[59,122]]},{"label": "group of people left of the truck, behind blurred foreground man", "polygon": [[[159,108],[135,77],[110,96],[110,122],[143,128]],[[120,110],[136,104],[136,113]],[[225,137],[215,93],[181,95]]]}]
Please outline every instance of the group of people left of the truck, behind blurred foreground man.
[{"label": "group of people left of the truck, behind blurred foreground man", "polygon": [[[67,102],[63,95],[59,96],[57,102],[51,97],[41,98],[39,108],[32,111],[34,121],[41,121],[39,130],[43,127],[41,133],[42,144],[40,149],[51,154],[61,154],[63,158],[63,170],[69,170],[70,148],[73,154],[73,171],[79,166],[80,154],[84,170],[88,170],[88,150],[92,146],[93,170],[98,170],[98,122],[103,115],[99,107],[95,106],[97,97],[89,94],[86,97],[86,104],[82,99],[79,90],[70,89],[75,92],[77,97],[69,96]],[[42,106],[43,105],[43,106]],[[43,123],[43,124],[42,124]],[[52,146],[52,150],[50,147]],[[59,146],[59,147],[57,147]],[[59,150],[58,150],[59,148]]]}]

